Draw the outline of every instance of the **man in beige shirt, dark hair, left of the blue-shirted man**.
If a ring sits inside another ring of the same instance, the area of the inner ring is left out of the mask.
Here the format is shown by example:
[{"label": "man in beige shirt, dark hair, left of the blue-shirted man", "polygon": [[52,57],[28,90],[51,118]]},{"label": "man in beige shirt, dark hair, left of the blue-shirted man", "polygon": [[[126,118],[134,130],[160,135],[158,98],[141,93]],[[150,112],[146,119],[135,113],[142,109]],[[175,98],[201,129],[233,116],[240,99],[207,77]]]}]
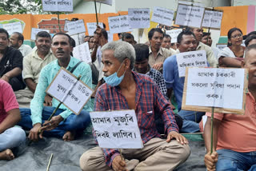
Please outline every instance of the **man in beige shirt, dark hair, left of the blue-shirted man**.
[{"label": "man in beige shirt, dark hair, left of the blue-shirted man", "polygon": [[150,41],[150,57],[149,63],[152,68],[155,70],[162,71],[162,64],[166,58],[173,55],[170,50],[162,48],[163,32],[159,28],[153,28],[148,34]]}]

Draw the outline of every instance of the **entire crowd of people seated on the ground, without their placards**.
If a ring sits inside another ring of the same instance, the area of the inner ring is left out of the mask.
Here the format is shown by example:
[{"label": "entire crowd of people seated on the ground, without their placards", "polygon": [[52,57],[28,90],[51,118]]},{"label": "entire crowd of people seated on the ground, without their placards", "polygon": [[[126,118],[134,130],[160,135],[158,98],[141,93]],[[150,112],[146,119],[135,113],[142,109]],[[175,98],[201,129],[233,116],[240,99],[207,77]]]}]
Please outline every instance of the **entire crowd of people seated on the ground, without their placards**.
[{"label": "entire crowd of people seated on the ground, without their placards", "polygon": [[[23,44],[22,34],[15,32],[9,38],[0,29],[0,160],[14,159],[14,149],[26,141],[24,130],[30,141],[42,137],[72,141],[91,126],[90,111],[134,109],[144,147],[123,149],[122,156],[118,149],[94,147],[82,154],[82,170],[173,170],[190,156],[189,142],[180,133],[199,132],[205,140],[207,170],[255,170],[256,34],[246,36],[244,47],[242,30],[232,28],[227,47],[218,50],[211,47],[210,33],[202,31],[186,28],[171,43],[169,35],[154,28],[148,33],[149,42],[137,44],[130,33],[108,42],[106,30],[98,26],[94,36],[84,38],[92,61],[86,64],[73,57],[75,42],[69,34],[51,38],[41,31],[32,50]],[[245,115],[214,113],[213,153],[210,113],[182,109],[185,78],[179,77],[176,54],[195,50],[206,51],[210,67],[249,70]],[[46,93],[61,67],[94,89],[79,115]]]}]

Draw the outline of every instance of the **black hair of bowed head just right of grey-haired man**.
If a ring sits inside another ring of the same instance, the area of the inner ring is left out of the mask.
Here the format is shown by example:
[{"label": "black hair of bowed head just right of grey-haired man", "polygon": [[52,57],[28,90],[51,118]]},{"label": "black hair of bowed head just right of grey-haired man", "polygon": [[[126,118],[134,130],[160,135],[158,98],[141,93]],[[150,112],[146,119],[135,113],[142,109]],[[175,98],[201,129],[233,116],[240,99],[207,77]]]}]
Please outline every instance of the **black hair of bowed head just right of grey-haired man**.
[{"label": "black hair of bowed head just right of grey-haired man", "polygon": [[145,44],[136,44],[134,45],[134,50],[136,54],[135,62],[142,62],[145,59],[149,59],[150,50],[149,47]]}]

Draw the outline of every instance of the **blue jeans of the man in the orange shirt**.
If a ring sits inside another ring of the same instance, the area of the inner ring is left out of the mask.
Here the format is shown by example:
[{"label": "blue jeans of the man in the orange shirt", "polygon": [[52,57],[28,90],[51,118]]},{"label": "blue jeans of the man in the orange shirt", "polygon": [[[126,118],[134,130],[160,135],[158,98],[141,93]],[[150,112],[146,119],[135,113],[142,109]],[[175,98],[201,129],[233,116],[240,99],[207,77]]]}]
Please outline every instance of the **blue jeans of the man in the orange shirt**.
[{"label": "blue jeans of the man in the orange shirt", "polygon": [[217,171],[256,170],[256,151],[248,153],[235,152],[230,149],[218,149]]}]

